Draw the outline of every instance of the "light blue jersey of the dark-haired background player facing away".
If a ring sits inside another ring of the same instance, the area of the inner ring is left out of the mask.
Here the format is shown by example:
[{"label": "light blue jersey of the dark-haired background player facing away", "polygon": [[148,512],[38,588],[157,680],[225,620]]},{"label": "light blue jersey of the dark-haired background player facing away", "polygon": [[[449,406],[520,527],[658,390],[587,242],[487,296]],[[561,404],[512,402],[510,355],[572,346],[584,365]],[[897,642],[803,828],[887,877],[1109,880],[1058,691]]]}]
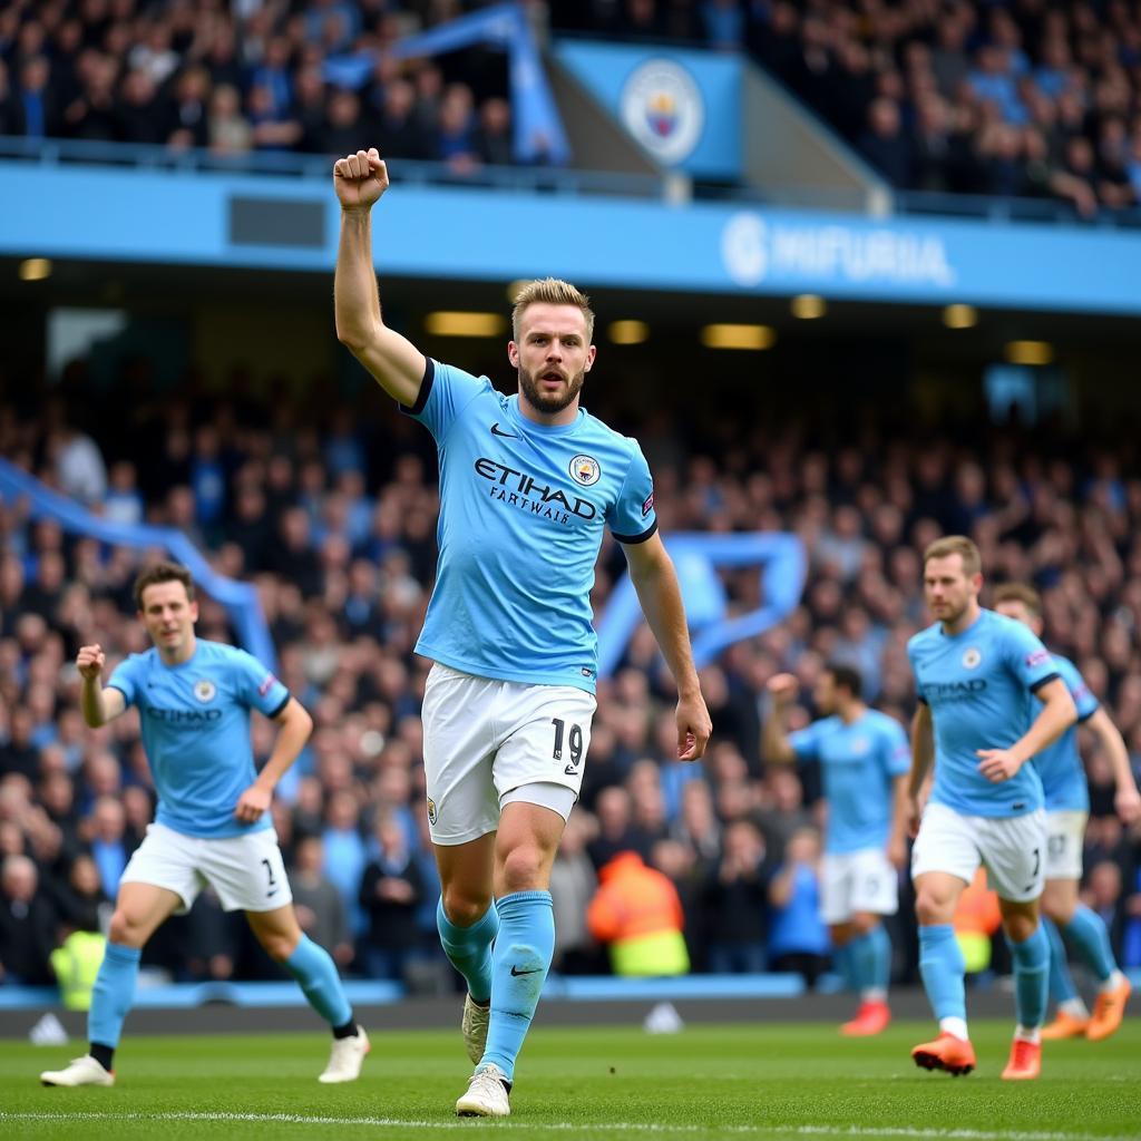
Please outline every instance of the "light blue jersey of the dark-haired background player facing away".
[{"label": "light blue jersey of the dark-haired background player facing away", "polygon": [[851,725],[823,718],[788,737],[799,760],[819,760],[828,801],[825,851],[839,856],[885,848],[891,831],[891,782],[912,763],[907,734],[893,718],[866,710]]}]

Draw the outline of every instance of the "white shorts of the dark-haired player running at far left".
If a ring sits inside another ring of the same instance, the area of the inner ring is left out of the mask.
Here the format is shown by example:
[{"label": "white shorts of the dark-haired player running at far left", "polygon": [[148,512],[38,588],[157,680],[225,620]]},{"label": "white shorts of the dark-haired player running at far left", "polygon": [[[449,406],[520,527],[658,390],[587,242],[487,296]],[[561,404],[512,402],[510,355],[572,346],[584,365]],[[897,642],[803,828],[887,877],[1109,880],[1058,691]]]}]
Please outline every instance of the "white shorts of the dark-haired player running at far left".
[{"label": "white shorts of the dark-haired player running at far left", "polygon": [[207,884],[227,912],[274,912],[293,901],[273,828],[207,837],[149,824],[119,882],[173,891],[183,899],[176,915],[185,915]]}]

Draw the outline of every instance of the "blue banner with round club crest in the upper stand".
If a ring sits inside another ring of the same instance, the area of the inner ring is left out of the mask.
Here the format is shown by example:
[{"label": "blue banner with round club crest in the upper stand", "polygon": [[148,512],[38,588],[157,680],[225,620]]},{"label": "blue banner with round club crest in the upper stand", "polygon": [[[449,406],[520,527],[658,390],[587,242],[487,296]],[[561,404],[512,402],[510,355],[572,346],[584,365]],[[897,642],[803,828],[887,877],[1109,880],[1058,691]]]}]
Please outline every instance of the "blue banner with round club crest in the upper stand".
[{"label": "blue banner with round club crest in the upper stand", "polygon": [[713,51],[560,40],[555,57],[656,163],[736,180],[742,63]]}]

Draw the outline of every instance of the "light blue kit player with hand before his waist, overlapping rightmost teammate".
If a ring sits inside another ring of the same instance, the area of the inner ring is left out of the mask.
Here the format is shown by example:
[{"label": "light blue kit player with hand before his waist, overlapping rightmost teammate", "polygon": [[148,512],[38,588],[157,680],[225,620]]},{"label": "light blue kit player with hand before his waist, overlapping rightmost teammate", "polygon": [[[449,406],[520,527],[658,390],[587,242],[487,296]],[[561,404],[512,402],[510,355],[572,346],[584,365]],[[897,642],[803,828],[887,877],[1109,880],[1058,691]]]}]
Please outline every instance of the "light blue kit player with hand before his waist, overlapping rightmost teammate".
[{"label": "light blue kit player with hand before his waist, overlapping rightmost teammate", "polygon": [[1042,1068],[1050,944],[1038,922],[1046,857],[1042,782],[1026,762],[1057,741],[1077,711],[1042,642],[1018,622],[984,610],[981,589],[979,550],[971,540],[950,535],[926,549],[923,591],[937,621],[907,644],[919,697],[908,793],[914,828],[933,760],[912,877],[920,973],[940,1034],[912,1057],[925,1069],[974,1068],[965,968],[952,921],[981,861],[998,895],[1014,962],[1018,1027],[1002,1076],[1035,1078]]}]

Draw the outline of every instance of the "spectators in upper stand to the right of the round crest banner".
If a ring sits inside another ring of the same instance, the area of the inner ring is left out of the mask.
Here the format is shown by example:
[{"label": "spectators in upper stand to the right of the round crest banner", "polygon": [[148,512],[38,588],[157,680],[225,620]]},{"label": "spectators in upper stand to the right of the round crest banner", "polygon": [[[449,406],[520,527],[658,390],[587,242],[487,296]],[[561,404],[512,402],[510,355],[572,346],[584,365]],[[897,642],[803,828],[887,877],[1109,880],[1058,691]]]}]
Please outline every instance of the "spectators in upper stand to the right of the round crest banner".
[{"label": "spectators in upper stand to the right of the round crest banner", "polygon": [[1011,0],[552,0],[556,26],[750,51],[900,189],[1141,202],[1141,15]]}]

